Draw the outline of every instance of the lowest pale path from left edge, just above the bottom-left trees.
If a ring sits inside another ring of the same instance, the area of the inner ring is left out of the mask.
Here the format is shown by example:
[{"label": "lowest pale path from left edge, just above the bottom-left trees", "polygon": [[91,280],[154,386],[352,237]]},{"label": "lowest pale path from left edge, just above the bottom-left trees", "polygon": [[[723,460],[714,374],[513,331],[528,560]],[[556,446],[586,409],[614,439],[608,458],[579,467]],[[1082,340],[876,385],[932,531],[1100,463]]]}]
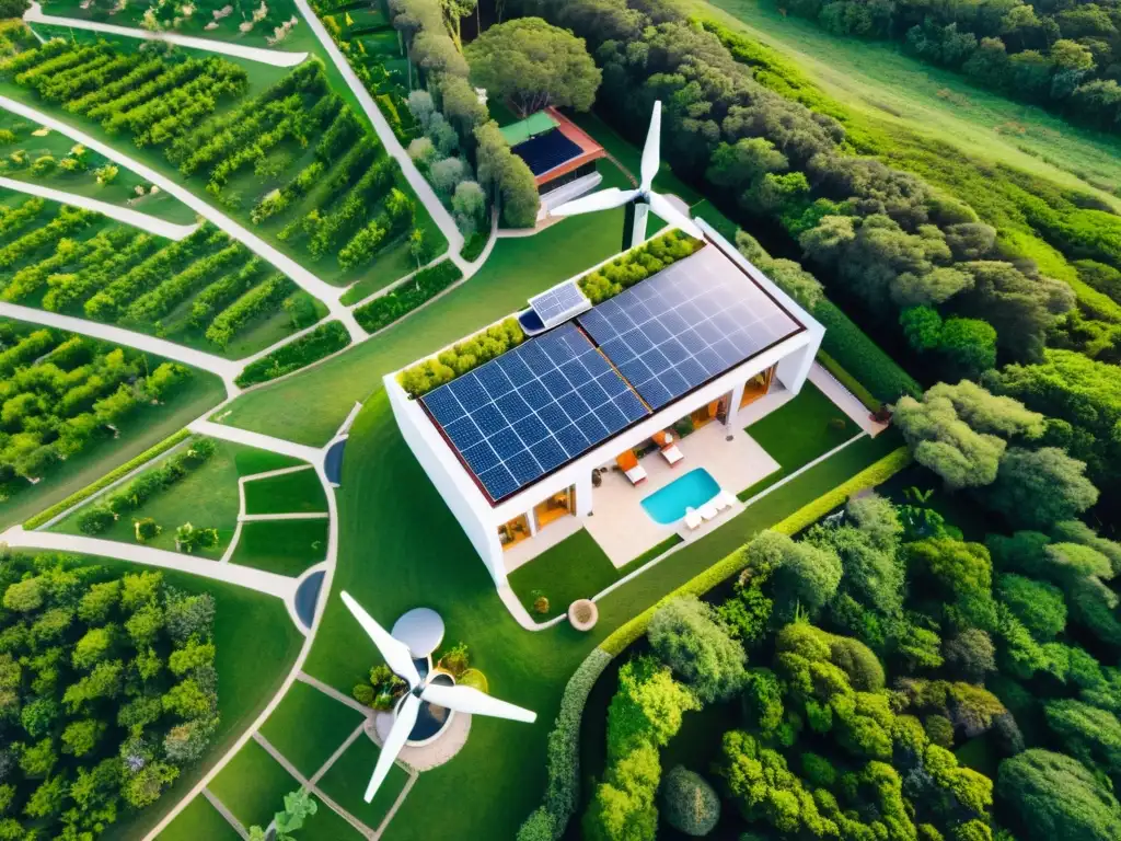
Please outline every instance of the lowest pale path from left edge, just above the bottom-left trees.
[{"label": "lowest pale path from left edge, just above the bottom-left trees", "polygon": [[215,561],[184,555],[178,552],[156,549],[132,543],[103,540],[83,535],[63,535],[54,532],[26,532],[22,526],[12,526],[3,533],[2,539],[12,547],[49,549],[52,552],[76,552],[83,555],[115,557],[143,566],[175,570],[214,581],[224,581],[261,593],[275,595],[286,603],[296,594],[296,579],[275,572],[254,570],[237,564],[220,564]]}]

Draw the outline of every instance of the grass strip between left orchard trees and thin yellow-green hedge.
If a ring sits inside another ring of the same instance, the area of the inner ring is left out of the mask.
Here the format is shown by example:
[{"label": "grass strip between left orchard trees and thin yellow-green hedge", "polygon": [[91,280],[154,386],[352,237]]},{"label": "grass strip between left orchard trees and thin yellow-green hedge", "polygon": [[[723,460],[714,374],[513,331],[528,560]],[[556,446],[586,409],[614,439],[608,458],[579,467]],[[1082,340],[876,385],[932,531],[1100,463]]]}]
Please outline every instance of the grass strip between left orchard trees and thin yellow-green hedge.
[{"label": "grass strip between left orchard trees and thin yellow-green hedge", "polygon": [[[164,360],[149,357],[149,370]],[[93,483],[118,464],[123,464],[178,432],[207,409],[225,399],[222,381],[203,371],[160,406],[145,406],[120,420],[119,438],[106,438],[86,452],[52,469],[38,484],[29,484],[6,502],[0,502],[0,529],[22,523],[71,493]],[[178,524],[176,524],[178,525]]]}]

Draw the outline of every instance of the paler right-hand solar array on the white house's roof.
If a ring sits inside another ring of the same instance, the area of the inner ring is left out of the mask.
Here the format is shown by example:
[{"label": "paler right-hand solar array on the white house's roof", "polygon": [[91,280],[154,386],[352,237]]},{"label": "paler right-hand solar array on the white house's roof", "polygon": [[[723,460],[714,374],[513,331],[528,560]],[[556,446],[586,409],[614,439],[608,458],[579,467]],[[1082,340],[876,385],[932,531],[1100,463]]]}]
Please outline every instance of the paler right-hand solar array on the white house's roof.
[{"label": "paler right-hand solar array on the white house's roof", "polygon": [[655,409],[799,330],[711,246],[577,323]]}]

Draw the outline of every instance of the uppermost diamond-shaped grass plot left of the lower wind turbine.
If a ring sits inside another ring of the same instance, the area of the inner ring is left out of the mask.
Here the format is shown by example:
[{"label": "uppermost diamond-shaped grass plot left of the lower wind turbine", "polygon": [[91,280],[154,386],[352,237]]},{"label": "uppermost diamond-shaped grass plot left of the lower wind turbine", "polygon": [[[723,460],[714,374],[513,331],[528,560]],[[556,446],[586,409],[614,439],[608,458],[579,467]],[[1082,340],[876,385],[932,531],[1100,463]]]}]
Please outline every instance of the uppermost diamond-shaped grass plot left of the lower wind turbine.
[{"label": "uppermost diamond-shaped grass plot left of the lower wind turbine", "polygon": [[312,777],[359,724],[362,714],[302,681],[261,728],[261,734],[305,777]]}]

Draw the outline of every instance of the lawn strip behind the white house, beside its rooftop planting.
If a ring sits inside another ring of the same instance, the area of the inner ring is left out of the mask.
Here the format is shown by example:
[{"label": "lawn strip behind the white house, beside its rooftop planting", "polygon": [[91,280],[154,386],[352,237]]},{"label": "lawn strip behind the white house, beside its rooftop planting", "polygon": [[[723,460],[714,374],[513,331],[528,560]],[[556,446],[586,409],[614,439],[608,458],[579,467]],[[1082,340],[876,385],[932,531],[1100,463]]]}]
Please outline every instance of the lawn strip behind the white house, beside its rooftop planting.
[{"label": "lawn strip behind the white house, beside its rooftop planting", "polygon": [[[611,166],[604,183],[621,186],[623,178]],[[530,295],[618,252],[622,219],[621,210],[573,216],[534,237],[499,240],[479,274],[462,286],[313,371],[243,395],[229,414],[223,410],[223,423],[325,444],[355,400],[381,388],[386,373],[524,307]]]}]

